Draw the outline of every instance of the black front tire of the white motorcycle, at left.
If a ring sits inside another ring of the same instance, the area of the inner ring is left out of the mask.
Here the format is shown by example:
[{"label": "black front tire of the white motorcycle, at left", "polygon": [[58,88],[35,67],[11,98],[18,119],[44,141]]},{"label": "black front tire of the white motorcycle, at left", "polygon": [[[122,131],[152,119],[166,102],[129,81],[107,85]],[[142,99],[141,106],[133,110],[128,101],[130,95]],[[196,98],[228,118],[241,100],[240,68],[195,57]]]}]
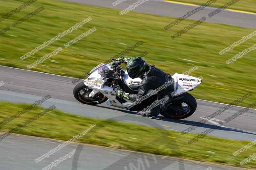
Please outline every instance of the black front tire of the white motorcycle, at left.
[{"label": "black front tire of the white motorcycle, at left", "polygon": [[[73,95],[74,97],[76,98],[77,101],[83,103],[83,104],[88,104],[88,105],[98,105],[98,104],[101,104],[101,103],[104,103],[105,101],[108,100],[108,98],[104,95],[104,94],[100,94],[102,95],[102,100],[100,101],[91,101],[91,100],[88,100],[87,98],[85,98],[82,94],[81,94],[81,91],[87,88],[90,88],[86,85],[84,85],[84,82],[80,82],[78,83],[74,90],[73,90]],[[85,91],[86,92],[86,91]],[[101,96],[100,96],[101,97]]]}]

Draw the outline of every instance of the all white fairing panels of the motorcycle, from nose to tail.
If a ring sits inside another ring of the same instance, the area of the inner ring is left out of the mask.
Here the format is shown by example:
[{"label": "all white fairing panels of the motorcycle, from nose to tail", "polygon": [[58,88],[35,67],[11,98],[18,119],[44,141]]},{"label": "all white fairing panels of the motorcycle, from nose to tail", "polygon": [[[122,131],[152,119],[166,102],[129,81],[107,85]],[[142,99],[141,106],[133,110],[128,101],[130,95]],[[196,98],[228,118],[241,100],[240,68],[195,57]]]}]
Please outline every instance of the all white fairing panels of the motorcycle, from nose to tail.
[{"label": "all white fairing panels of the motorcycle, from nose to tail", "polygon": [[[184,74],[177,74],[175,73],[172,78],[174,78],[174,88],[175,88],[175,95],[178,96],[184,92],[190,91],[194,89],[196,86],[198,86],[202,80],[199,78],[195,78],[192,76],[184,75]],[[124,82],[128,86],[140,86],[141,83],[140,78],[130,78],[128,76],[127,71],[125,71],[124,75]],[[125,103],[120,103],[118,100],[116,100],[116,94],[117,89],[113,90],[112,87],[109,87],[107,85],[104,85],[105,80],[103,80],[103,77],[99,74],[98,70],[93,71],[89,78],[84,80],[84,84],[86,86],[89,86],[93,89],[93,91],[90,94],[90,97],[93,97],[96,93],[101,92],[104,94],[107,98],[107,104],[115,107],[125,108],[126,106],[130,105],[132,101],[127,100]],[[138,91],[140,88],[137,89]]]}]

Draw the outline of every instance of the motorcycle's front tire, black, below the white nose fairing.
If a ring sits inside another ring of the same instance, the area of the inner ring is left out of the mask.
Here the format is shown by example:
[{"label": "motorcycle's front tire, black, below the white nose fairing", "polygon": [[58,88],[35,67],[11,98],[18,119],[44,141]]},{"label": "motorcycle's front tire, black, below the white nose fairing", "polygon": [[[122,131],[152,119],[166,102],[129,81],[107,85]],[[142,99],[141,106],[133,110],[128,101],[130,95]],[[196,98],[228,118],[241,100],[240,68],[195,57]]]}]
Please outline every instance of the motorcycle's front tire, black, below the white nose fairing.
[{"label": "motorcycle's front tire, black, below the white nose fairing", "polygon": [[77,101],[88,105],[98,105],[108,100],[108,98],[100,92],[95,94],[93,98],[90,98],[88,94],[91,92],[92,88],[84,85],[84,82],[80,82],[75,86],[73,95]]}]

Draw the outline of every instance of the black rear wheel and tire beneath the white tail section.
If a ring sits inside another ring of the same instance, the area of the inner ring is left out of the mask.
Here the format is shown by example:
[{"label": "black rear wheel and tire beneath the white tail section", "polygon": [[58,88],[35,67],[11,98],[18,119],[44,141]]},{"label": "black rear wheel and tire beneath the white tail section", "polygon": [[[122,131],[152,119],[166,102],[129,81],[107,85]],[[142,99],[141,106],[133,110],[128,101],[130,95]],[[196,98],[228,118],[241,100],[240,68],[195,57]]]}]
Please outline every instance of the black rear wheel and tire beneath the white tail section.
[{"label": "black rear wheel and tire beneath the white tail section", "polygon": [[[182,103],[185,103],[187,106],[185,108],[182,107]],[[168,107],[163,113],[161,113],[161,115],[170,119],[185,119],[191,116],[196,111],[197,103],[196,99],[191,94],[186,92],[182,99],[175,101],[174,105],[171,105],[171,107],[175,106],[177,106],[177,108],[182,108],[186,110],[186,112],[182,114],[175,114],[175,111]]]}]

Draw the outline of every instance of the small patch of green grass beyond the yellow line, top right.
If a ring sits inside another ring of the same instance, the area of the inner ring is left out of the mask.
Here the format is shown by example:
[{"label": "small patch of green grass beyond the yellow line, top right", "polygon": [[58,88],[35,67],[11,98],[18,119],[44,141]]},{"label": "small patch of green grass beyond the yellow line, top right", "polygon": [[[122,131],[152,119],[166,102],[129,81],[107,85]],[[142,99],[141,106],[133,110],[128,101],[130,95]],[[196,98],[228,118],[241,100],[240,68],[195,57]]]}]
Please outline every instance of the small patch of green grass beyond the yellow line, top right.
[{"label": "small patch of green grass beyond the yellow line, top right", "polygon": [[[172,1],[185,2],[185,3],[196,4],[196,5],[202,5],[203,3],[205,4],[206,2],[208,2],[208,0],[172,0]],[[216,0],[215,3],[212,3],[209,6],[220,8],[223,5],[225,5],[225,4],[227,4],[231,1],[232,0]],[[240,0],[240,1],[236,2],[235,4],[231,5],[230,7],[228,7],[228,9],[247,11],[247,12],[255,12],[256,13],[255,8],[256,8],[255,0]]]}]

